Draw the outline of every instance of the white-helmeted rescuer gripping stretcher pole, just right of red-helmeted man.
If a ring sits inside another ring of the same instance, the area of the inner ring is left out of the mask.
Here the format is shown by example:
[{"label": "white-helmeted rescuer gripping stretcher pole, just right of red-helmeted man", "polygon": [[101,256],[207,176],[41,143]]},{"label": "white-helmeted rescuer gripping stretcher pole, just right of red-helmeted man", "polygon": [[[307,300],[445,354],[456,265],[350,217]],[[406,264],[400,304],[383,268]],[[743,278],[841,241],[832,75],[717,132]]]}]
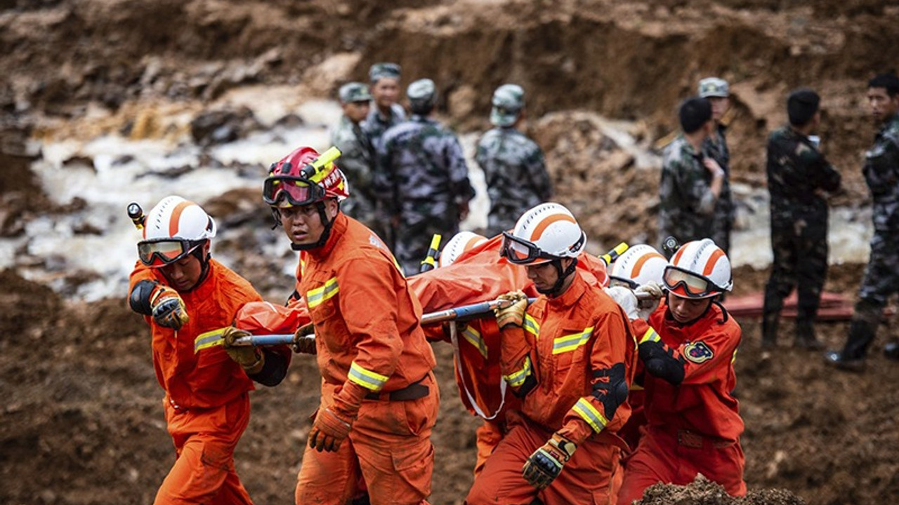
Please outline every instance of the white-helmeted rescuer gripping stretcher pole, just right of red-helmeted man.
[{"label": "white-helmeted rescuer gripping stretcher pole, just right of red-helmeted man", "polygon": [[622,309],[575,270],[585,243],[557,203],[531,208],[503,233],[503,256],[525,267],[541,296],[528,306],[523,293],[508,293],[511,305],[497,311],[503,375],[522,398],[521,415],[509,420],[469,505],[614,501],[636,340]]}]

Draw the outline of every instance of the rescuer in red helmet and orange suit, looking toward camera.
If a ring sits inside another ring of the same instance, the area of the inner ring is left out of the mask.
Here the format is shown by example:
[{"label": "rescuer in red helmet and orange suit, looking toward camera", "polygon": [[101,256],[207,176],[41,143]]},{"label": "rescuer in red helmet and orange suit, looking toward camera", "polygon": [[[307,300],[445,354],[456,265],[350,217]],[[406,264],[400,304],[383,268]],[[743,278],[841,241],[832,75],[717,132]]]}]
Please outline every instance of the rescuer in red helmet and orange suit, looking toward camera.
[{"label": "rescuer in red helmet and orange suit, looking toward camera", "polygon": [[440,400],[422,307],[378,235],[340,212],[343,173],[317,158],[299,147],[263,186],[301,252],[293,297],[306,301],[322,374],[296,502],[343,504],[361,480],[374,505],[427,503]]}]

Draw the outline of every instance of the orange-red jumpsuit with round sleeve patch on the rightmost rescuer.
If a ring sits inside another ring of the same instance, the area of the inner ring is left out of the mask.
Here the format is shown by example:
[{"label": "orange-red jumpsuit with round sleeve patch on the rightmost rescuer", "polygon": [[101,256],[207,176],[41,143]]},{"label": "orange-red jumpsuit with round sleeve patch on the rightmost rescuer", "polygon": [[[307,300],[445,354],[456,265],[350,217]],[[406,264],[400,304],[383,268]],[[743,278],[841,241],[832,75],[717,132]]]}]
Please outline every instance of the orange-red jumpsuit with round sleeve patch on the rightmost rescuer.
[{"label": "orange-red jumpsuit with round sleeve patch on the rightmost rescuer", "polygon": [[619,503],[639,500],[654,483],[686,485],[697,474],[721,484],[733,496],[745,495],[743,419],[731,394],[740,325],[717,304],[687,325],[674,321],[661,304],[643,329],[657,332],[674,358],[682,359],[684,378],[680,385],[672,385],[645,374],[648,426],[628,459]]}]

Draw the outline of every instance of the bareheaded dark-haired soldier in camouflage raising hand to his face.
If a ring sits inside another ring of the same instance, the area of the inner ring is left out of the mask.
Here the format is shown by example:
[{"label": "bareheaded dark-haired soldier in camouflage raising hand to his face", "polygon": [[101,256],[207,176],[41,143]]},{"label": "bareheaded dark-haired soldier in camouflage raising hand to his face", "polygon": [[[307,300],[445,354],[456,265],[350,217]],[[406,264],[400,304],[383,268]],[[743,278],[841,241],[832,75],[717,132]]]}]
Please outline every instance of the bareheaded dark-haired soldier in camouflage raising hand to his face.
[{"label": "bareheaded dark-haired soldier in camouflage raising hand to his face", "polygon": [[671,235],[680,244],[712,236],[715,205],[725,171],[705,155],[703,143],[712,133],[712,106],[691,97],[678,113],[681,134],[665,147],[659,186],[659,243]]}]

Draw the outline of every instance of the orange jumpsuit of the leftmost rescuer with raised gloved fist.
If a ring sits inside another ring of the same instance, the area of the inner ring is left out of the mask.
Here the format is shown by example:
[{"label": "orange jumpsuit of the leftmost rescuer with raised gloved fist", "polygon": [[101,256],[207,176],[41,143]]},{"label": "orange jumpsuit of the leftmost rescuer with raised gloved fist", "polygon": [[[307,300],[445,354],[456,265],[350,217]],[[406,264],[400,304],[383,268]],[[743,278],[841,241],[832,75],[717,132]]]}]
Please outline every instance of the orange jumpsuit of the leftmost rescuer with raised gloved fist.
[{"label": "orange jumpsuit of the leftmost rescuer with raised gloved fist", "polygon": [[[138,263],[140,280],[167,284],[162,272]],[[129,288],[129,291],[130,291]],[[234,449],[250,420],[253,381],[221,346],[194,352],[201,333],[230,326],[238,309],[262,297],[242,277],[215,260],[191,291],[179,293],[190,321],[175,331],[145,316],[153,332],[153,365],[165,390],[165,421],[175,462],[156,493],[164,503],[252,503],[234,466]]]}]

